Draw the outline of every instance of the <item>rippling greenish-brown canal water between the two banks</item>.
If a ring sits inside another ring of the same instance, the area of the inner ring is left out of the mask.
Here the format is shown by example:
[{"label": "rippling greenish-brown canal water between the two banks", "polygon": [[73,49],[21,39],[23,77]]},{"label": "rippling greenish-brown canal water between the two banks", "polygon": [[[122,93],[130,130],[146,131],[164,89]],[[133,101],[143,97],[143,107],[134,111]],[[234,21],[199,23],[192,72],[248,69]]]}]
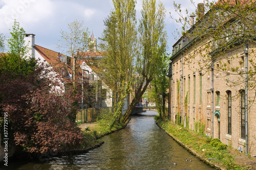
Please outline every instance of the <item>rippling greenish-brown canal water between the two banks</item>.
[{"label": "rippling greenish-brown canal water between the two banks", "polygon": [[8,169],[215,169],[161,130],[155,124],[156,114],[155,111],[146,111],[132,116],[126,128],[104,136],[105,143],[87,153],[71,158],[56,157],[49,162],[12,160]]}]

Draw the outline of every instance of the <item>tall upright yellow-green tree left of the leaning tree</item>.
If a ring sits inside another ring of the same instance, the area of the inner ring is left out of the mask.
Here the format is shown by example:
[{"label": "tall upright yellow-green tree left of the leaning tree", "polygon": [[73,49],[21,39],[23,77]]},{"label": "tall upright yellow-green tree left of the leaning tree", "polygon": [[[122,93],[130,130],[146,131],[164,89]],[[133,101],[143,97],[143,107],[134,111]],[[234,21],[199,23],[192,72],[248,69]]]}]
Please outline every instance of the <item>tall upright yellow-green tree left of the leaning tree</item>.
[{"label": "tall upright yellow-green tree left of the leaning tree", "polygon": [[137,50],[134,0],[113,0],[114,10],[104,20],[100,46],[105,59],[100,66],[114,94],[114,122],[121,120],[124,99],[130,91]]}]

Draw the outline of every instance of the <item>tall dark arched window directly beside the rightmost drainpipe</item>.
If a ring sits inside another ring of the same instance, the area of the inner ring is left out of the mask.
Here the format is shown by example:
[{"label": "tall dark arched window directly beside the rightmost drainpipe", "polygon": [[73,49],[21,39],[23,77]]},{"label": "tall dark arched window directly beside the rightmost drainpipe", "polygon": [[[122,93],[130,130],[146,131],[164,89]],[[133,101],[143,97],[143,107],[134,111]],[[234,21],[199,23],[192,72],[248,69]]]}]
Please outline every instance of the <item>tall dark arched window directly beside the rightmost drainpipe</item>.
[{"label": "tall dark arched window directly beside the rightmost drainpipe", "polygon": [[245,90],[241,90],[240,95],[241,95],[241,138],[245,139]]}]

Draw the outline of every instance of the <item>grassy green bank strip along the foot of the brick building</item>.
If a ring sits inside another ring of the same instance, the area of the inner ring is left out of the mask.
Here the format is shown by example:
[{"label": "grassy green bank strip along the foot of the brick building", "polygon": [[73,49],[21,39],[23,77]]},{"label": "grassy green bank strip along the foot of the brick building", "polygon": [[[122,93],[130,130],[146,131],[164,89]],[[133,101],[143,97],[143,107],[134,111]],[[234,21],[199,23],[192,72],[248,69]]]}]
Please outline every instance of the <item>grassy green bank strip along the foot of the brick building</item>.
[{"label": "grassy green bank strip along the foot of the brick building", "polygon": [[[159,118],[155,118],[159,120]],[[253,164],[252,158],[240,154],[239,151],[226,146],[219,139],[211,139],[200,132],[183,128],[169,120],[158,121],[158,126],[165,130],[170,136],[177,140],[193,154],[220,169],[255,169],[249,166]],[[198,124],[199,126],[199,124]],[[243,156],[243,161],[236,160],[236,156]],[[245,160],[246,159],[246,160]]]}]

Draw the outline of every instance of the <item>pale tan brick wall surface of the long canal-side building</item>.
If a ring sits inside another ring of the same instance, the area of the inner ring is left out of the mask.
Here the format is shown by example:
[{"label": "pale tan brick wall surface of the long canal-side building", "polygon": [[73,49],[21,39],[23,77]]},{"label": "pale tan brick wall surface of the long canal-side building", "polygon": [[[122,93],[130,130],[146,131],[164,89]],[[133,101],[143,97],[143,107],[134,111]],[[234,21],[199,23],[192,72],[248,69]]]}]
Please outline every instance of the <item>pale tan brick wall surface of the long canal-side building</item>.
[{"label": "pale tan brick wall surface of the long canal-side building", "polygon": [[[195,47],[195,45],[194,45]],[[255,44],[248,44],[248,60],[254,57],[253,50],[256,50]],[[192,53],[191,50],[190,53]],[[169,74],[169,115],[175,121],[176,115],[181,111],[183,120],[185,114],[189,119],[189,128],[195,130],[195,125],[201,123],[205,125],[204,132],[211,136],[212,129],[214,138],[220,138],[225,144],[230,144],[233,148],[243,148],[245,151],[245,138],[241,135],[241,90],[245,89],[245,54],[244,46],[238,46],[227,51],[224,55],[218,56],[214,62],[213,71],[213,93],[214,93],[214,127],[211,126],[212,104],[211,104],[211,69],[200,68],[202,56],[200,54],[193,60],[185,61],[189,52],[177,53],[172,57],[172,74]],[[182,57],[183,56],[183,57]],[[184,62],[182,62],[184,60]],[[201,62],[199,64],[199,62]],[[225,63],[225,64],[224,64]],[[207,64],[206,64],[207,65]],[[236,72],[231,68],[238,66]],[[248,68],[250,68],[248,62]],[[182,74],[183,72],[183,74]],[[238,75],[241,72],[242,77]],[[233,83],[236,83],[234,85]],[[177,85],[180,87],[178,88]],[[181,87],[183,89],[181,89]],[[179,90],[179,92],[177,91]],[[231,132],[228,134],[228,99],[227,93],[231,91]],[[182,102],[181,102],[181,93]],[[179,96],[178,96],[179,94]],[[185,98],[187,95],[187,107],[185,107]],[[219,95],[219,98],[218,98]],[[254,100],[255,89],[248,88],[248,153],[256,155],[256,106],[250,103]],[[219,105],[218,105],[219,102]],[[183,108],[181,108],[181,103]],[[219,116],[220,115],[220,116]],[[184,121],[183,124],[185,125]]]}]

